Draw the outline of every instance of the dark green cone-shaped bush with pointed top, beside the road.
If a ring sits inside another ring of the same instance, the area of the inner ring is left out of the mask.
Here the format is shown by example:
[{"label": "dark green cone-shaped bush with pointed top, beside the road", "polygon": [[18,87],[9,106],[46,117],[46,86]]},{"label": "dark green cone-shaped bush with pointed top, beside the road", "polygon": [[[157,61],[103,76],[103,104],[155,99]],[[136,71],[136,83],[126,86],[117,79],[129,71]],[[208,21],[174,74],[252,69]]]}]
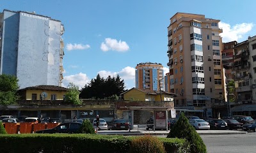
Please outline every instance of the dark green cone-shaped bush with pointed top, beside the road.
[{"label": "dark green cone-shaped bush with pointed top, beside the road", "polygon": [[186,138],[190,144],[190,152],[207,152],[202,138],[196,132],[195,128],[189,124],[189,120],[185,117],[184,113],[181,113],[179,120],[170,129],[167,138]]}]

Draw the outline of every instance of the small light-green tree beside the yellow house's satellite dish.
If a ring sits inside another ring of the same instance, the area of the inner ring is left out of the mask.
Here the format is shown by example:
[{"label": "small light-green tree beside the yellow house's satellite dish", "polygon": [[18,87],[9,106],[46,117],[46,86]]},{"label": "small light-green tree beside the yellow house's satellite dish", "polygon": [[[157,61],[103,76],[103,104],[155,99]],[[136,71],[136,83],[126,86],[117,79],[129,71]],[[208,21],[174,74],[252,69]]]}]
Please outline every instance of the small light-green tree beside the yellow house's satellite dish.
[{"label": "small light-green tree beside the yellow house's satellite dish", "polygon": [[77,87],[73,83],[69,83],[68,92],[65,95],[65,101],[74,105],[81,105],[82,101],[79,99],[79,94],[79,87]]}]

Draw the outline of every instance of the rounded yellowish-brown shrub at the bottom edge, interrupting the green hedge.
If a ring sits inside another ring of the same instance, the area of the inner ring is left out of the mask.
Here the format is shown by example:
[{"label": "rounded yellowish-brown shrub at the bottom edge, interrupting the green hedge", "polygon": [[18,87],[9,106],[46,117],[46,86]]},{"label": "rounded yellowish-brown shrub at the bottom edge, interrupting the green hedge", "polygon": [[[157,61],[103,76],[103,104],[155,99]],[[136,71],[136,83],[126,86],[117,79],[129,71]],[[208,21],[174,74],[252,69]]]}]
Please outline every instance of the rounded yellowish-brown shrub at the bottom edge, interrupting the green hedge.
[{"label": "rounded yellowish-brown shrub at the bottom edge, interrupting the green hedge", "polygon": [[131,141],[131,152],[153,152],[161,153],[165,152],[163,142],[161,142],[155,136],[145,135],[135,138]]}]

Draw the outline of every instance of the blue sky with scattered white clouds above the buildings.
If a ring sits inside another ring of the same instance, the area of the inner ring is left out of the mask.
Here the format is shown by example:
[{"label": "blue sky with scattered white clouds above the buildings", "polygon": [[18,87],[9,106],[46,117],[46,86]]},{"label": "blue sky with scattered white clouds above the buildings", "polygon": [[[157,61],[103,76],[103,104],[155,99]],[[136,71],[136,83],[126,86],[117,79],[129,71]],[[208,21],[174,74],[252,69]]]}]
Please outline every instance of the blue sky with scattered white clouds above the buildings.
[{"label": "blue sky with scattered white clouds above the buildings", "polygon": [[253,0],[1,0],[0,11],[35,11],[61,20],[65,26],[64,86],[73,82],[84,87],[99,73],[104,78],[119,74],[130,89],[140,62],[158,62],[168,71],[167,27],[175,13],[220,19],[223,42],[241,42],[256,35],[255,6]]}]

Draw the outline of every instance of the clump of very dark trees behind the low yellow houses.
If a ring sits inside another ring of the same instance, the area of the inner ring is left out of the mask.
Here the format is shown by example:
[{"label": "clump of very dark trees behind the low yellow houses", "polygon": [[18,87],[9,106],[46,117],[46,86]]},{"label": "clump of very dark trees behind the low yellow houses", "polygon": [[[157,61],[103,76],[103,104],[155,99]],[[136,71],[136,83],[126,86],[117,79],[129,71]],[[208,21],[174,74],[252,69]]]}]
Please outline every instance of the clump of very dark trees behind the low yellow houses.
[{"label": "clump of very dark trees behind the low yellow houses", "polygon": [[118,99],[124,90],[124,80],[119,75],[104,79],[98,74],[91,82],[84,85],[81,90],[80,98],[83,99]]}]

